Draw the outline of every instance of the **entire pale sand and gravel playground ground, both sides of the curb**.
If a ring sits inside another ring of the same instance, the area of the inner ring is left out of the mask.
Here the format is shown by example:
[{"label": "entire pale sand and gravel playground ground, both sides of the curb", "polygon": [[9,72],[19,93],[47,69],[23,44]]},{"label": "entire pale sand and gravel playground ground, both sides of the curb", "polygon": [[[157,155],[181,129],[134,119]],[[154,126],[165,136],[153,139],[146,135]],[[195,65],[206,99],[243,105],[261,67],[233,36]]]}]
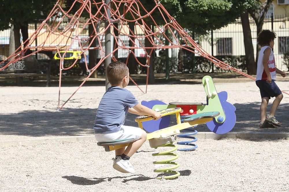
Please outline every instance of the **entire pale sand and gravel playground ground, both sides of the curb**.
[{"label": "entire pale sand and gravel playground ground, both sides of the curb", "polygon": [[[213,80],[217,91],[227,91],[227,101],[236,107],[232,132],[289,132],[289,95],[284,94],[275,113],[281,128],[260,129],[260,93],[255,82],[236,77]],[[286,77],[277,84],[289,92],[288,82]],[[145,85],[140,88],[145,90]],[[64,85],[60,103],[76,89]],[[206,102],[201,78],[149,85],[147,94],[134,85],[127,89],[140,101]],[[0,90],[0,141],[7,141],[93,134],[105,87],[89,84],[80,88],[59,112],[57,86],[1,86]],[[271,104],[272,100],[268,108]],[[128,115],[126,125],[137,126],[135,117]],[[205,125],[197,130],[210,131]],[[163,149],[152,149],[148,142],[131,158],[136,174],[114,170],[113,152],[97,147],[95,140],[2,146],[0,191],[289,191],[288,140],[208,139],[196,143],[195,151],[176,152],[181,176],[165,181],[154,179],[158,176],[152,164],[156,157],[151,156]]]}]

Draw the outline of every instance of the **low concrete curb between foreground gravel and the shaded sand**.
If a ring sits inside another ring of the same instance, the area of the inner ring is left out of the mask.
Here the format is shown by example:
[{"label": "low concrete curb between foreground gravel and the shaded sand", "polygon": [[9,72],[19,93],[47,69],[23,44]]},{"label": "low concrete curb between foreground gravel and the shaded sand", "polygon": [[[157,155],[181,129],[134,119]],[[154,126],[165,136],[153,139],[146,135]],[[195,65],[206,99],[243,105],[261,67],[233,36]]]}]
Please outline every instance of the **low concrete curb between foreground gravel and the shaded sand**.
[{"label": "low concrete curb between foreground gravel and the shaded sand", "polygon": [[[214,139],[219,140],[222,138],[231,138],[231,139],[280,139],[280,138],[289,138],[289,133],[275,133],[275,132],[230,132],[227,134],[215,134],[212,132],[198,132],[194,135],[198,139]],[[89,141],[95,140],[94,135],[84,135],[84,136],[69,136],[69,137],[52,137],[52,138],[38,138],[38,139],[27,139],[27,140],[7,140],[0,141],[0,146],[18,146],[18,145],[36,145],[39,143],[44,143],[49,140],[55,141]],[[96,141],[96,140],[95,140]]]}]

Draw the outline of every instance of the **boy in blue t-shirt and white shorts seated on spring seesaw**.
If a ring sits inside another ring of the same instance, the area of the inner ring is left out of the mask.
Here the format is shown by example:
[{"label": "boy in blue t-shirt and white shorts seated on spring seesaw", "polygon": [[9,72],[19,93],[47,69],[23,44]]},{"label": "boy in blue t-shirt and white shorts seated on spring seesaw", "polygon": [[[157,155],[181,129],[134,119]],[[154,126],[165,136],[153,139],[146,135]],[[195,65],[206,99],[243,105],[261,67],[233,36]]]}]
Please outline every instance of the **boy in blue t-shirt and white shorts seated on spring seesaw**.
[{"label": "boy in blue t-shirt and white shorts seated on spring seesaw", "polygon": [[129,83],[128,67],[122,62],[112,62],[107,67],[108,81],[112,85],[103,95],[95,118],[95,138],[99,142],[115,142],[134,138],[134,142],[115,150],[113,168],[123,173],[135,173],[129,159],[147,139],[144,130],[125,126],[127,112],[136,115],[153,116],[160,119],[161,114],[140,104],[134,95],[124,89]]}]

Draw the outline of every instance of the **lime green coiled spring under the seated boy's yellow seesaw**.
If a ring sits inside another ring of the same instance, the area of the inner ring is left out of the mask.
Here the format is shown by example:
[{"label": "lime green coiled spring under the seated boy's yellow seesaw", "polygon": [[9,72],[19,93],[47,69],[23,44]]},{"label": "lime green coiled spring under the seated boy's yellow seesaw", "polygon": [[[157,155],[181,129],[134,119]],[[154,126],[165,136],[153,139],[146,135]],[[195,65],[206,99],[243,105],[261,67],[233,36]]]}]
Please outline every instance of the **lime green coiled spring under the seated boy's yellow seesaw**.
[{"label": "lime green coiled spring under the seated boy's yellow seesaw", "polygon": [[172,153],[173,151],[177,150],[177,147],[175,145],[173,145],[173,142],[169,142],[169,143],[166,143],[164,145],[159,145],[159,146],[156,146],[155,148],[157,147],[173,147],[173,149],[171,150],[168,150],[168,151],[163,151],[163,152],[160,152],[160,153],[153,153],[153,156],[159,156],[159,155],[171,155],[171,156],[174,156],[173,158],[171,159],[165,159],[165,160],[161,160],[161,161],[154,161],[153,164],[169,164],[169,165],[174,165],[172,167],[168,167],[168,168],[160,168],[160,169],[155,169],[153,170],[153,172],[161,172],[161,173],[172,173],[173,175],[169,175],[169,176],[160,176],[160,177],[157,177],[156,179],[172,179],[172,178],[175,178],[177,176],[180,175],[180,173],[178,171],[174,171],[172,169],[176,169],[178,168],[180,165],[176,162],[173,162],[173,160],[179,158],[179,155],[178,154],[175,154],[175,153]]}]

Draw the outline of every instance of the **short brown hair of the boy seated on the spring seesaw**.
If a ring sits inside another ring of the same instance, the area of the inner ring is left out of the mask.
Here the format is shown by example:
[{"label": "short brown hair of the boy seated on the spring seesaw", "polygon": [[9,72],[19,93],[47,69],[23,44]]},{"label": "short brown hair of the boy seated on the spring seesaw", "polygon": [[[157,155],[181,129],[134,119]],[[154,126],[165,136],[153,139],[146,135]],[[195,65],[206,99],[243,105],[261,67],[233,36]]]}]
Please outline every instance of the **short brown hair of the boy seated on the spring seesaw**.
[{"label": "short brown hair of the boy seated on the spring seesaw", "polygon": [[118,85],[123,77],[128,75],[128,67],[120,61],[111,62],[107,66],[106,74],[111,85]]}]

